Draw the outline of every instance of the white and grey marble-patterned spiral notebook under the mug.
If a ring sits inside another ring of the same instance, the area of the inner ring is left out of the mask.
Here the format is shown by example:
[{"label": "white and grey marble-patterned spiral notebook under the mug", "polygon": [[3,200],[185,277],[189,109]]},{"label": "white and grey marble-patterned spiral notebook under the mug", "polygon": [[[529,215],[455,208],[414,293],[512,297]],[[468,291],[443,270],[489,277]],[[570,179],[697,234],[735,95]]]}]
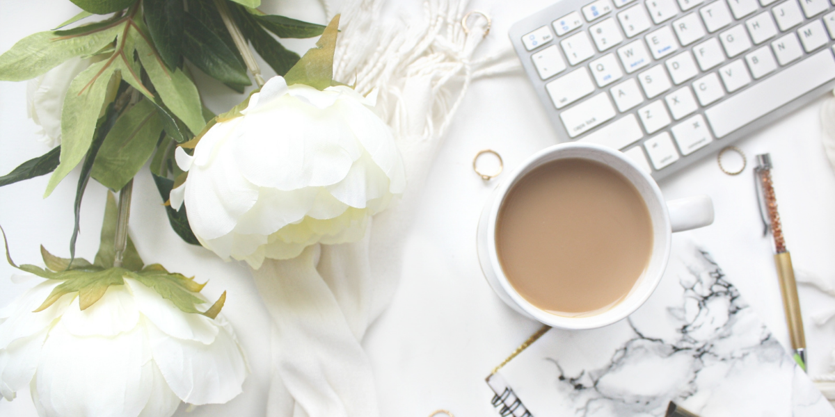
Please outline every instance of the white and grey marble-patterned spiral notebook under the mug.
[{"label": "white and grey marble-patterned spiral notebook under the mug", "polygon": [[664,278],[629,318],[549,329],[488,378],[499,414],[835,417],[835,409],[706,251],[681,239]]}]

